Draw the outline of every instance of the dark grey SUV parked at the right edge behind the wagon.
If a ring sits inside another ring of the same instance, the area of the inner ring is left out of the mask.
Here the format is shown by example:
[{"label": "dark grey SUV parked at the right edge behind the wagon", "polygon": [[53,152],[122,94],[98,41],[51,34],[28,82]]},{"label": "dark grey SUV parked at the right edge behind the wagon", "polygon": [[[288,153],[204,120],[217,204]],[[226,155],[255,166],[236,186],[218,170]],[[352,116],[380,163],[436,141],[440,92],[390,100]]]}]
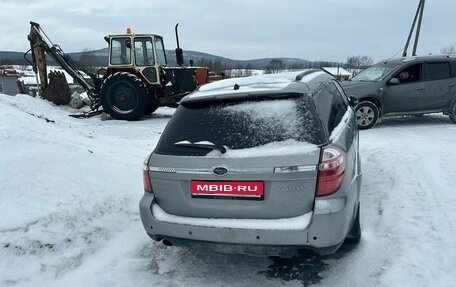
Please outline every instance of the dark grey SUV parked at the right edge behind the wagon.
[{"label": "dark grey SUV parked at the right edge behind the wagon", "polygon": [[456,58],[423,56],[380,62],[342,82],[359,99],[360,129],[382,117],[441,113],[456,123]]}]

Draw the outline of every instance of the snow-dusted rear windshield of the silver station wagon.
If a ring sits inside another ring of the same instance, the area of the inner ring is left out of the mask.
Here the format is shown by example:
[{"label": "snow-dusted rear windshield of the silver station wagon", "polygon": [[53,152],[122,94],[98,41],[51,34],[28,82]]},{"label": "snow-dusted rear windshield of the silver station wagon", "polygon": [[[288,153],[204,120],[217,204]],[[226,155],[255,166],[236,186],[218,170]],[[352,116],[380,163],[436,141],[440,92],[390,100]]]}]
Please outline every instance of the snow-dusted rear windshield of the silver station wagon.
[{"label": "snow-dusted rear windshield of the silver station wagon", "polygon": [[204,142],[239,150],[287,140],[311,144],[326,141],[315,106],[307,96],[181,105],[165,128],[155,152],[172,155],[210,152],[175,145],[179,142]]}]

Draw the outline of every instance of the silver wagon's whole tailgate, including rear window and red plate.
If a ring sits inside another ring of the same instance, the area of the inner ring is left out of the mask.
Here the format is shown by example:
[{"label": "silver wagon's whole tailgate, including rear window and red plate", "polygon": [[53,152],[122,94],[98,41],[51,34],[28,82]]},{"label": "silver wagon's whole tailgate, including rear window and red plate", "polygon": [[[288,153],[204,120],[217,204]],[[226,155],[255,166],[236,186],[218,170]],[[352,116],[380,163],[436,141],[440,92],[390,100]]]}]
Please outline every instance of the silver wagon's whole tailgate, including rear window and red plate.
[{"label": "silver wagon's whole tailgate, including rear window and red plate", "polygon": [[302,94],[187,103],[150,157],[153,193],[179,216],[299,216],[313,209],[325,142]]}]

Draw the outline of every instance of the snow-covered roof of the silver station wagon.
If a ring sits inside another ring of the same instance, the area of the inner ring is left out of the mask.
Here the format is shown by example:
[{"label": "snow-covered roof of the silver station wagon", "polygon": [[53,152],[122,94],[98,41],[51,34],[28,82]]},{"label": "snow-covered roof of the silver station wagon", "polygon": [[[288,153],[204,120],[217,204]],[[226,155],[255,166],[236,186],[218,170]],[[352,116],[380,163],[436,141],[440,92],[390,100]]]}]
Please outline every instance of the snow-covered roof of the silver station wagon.
[{"label": "snow-covered roof of the silver station wagon", "polygon": [[299,85],[299,92],[312,93],[321,83],[331,78],[331,75],[321,70],[231,78],[205,84],[182,98],[181,103],[296,92],[296,84]]}]

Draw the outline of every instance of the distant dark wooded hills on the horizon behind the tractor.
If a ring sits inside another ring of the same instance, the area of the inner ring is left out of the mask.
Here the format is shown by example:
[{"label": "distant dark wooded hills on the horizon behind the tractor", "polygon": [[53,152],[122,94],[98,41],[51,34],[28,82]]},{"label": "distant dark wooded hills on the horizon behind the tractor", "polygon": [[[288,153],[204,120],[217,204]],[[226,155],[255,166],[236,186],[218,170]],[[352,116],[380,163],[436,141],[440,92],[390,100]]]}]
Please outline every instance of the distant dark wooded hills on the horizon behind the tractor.
[{"label": "distant dark wooded hills on the horizon behind the tractor", "polygon": [[[100,49],[91,51],[93,57],[93,64],[95,66],[104,67],[108,63],[108,49]],[[68,55],[79,61],[81,53],[68,53]],[[176,57],[173,50],[166,50],[166,57],[168,59],[169,65],[176,65]],[[27,59],[31,61],[31,55],[27,55]],[[194,64],[207,63],[208,61],[218,61],[221,65],[227,69],[239,69],[249,67],[250,69],[264,69],[268,63],[273,58],[262,58],[262,59],[252,59],[252,60],[234,60],[229,58],[224,58],[216,55],[211,55],[207,53],[197,52],[197,51],[184,51],[184,61],[186,65],[189,65],[190,60],[193,60]],[[296,59],[296,58],[274,58],[279,59],[285,65],[285,67],[309,67],[312,65],[311,61]],[[52,59],[48,58],[49,64],[55,64]],[[12,52],[12,51],[0,51],[0,64],[11,64],[11,65],[21,65],[26,64],[24,60],[23,52]]]}]

